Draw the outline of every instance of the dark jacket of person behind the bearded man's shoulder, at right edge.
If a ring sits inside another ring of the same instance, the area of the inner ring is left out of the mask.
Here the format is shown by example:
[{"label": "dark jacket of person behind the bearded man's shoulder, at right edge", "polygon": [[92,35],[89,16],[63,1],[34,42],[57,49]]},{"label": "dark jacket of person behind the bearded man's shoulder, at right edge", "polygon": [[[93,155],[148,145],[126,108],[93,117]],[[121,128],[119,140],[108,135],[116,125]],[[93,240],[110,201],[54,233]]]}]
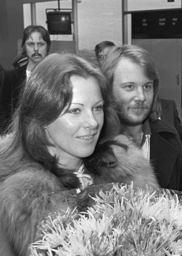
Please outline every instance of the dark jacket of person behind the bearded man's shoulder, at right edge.
[{"label": "dark jacket of person behind the bearded man's shoulder, at right edge", "polygon": [[172,99],[161,99],[161,106],[161,120],[174,125],[179,133],[179,137],[182,142],[182,125],[175,101],[173,101]]}]

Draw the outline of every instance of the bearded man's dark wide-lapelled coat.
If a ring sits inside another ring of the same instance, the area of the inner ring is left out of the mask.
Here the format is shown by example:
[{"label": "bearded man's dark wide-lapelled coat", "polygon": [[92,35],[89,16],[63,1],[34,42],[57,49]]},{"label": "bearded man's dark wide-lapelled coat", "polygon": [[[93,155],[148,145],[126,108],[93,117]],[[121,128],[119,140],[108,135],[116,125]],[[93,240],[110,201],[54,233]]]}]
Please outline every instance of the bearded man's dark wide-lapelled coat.
[{"label": "bearded man's dark wide-lapelled coat", "polygon": [[182,191],[182,146],[177,130],[157,120],[150,122],[150,161],[162,188]]}]

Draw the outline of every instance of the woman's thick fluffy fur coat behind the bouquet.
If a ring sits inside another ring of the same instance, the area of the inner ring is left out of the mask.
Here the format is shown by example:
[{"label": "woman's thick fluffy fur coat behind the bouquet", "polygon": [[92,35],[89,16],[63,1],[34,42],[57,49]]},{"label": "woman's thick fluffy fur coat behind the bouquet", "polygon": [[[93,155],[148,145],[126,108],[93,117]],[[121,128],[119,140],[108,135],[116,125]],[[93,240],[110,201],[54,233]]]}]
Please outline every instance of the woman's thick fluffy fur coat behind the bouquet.
[{"label": "woman's thick fluffy fur coat behind the bouquet", "polygon": [[[130,185],[133,182],[134,188],[148,185],[157,189],[153,168],[139,148],[124,135],[117,139],[126,145],[126,148],[112,146],[117,164],[101,165],[96,172],[86,171],[94,184],[119,182]],[[1,145],[3,143],[7,144],[6,139]],[[109,154],[105,157],[108,158]],[[76,189],[69,197],[58,178],[39,163],[20,158],[9,159],[7,165],[0,163],[0,173],[7,168],[17,171],[0,184],[0,255],[28,256],[28,245],[37,240],[38,223],[50,212],[66,210],[67,205],[74,208]],[[75,179],[78,178],[75,176]]]}]

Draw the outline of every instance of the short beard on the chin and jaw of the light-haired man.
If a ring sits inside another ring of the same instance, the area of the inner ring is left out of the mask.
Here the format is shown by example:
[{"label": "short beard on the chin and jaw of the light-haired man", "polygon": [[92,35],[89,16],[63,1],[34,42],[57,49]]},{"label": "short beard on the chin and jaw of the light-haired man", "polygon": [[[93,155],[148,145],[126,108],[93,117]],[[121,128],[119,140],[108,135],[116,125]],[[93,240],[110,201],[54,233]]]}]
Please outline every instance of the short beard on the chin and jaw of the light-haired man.
[{"label": "short beard on the chin and jaw of the light-haired man", "polygon": [[120,105],[119,103],[116,103],[116,111],[118,113],[119,121],[120,123],[127,126],[135,126],[135,125],[143,124],[143,122],[148,118],[151,108],[152,108],[152,104],[145,112],[145,115],[142,115],[141,117],[139,116],[137,119],[137,118],[132,118],[132,114],[129,114],[127,110],[123,109],[122,105]]}]

